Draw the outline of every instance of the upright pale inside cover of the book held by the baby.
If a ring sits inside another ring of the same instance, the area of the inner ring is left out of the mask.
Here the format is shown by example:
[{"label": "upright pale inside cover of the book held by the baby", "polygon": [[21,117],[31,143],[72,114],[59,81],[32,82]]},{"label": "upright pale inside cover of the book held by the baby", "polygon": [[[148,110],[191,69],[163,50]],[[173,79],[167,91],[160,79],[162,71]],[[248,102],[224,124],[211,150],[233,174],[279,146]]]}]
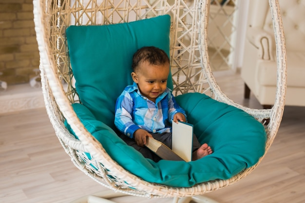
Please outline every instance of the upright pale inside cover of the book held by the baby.
[{"label": "upright pale inside cover of the book held by the baby", "polygon": [[172,122],[172,151],[186,162],[191,161],[193,126],[184,122]]}]

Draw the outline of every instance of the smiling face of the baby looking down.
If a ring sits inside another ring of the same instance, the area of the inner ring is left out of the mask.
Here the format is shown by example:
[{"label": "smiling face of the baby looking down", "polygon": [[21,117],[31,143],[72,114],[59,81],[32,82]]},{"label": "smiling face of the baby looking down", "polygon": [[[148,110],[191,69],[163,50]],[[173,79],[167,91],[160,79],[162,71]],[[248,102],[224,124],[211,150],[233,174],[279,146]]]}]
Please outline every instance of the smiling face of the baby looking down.
[{"label": "smiling face of the baby looking down", "polygon": [[144,61],[136,73],[132,73],[132,77],[138,84],[141,94],[155,102],[156,98],[166,90],[169,74],[170,64],[152,65]]}]

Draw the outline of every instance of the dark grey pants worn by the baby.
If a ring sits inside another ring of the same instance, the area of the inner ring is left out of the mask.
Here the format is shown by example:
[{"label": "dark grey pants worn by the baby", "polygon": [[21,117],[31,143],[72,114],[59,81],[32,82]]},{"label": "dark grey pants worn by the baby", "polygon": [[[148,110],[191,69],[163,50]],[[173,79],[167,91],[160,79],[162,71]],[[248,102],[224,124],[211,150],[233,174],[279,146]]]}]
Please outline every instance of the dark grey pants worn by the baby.
[{"label": "dark grey pants worn by the baby", "polygon": [[[151,133],[152,137],[160,142],[162,142],[164,145],[166,145],[169,148],[172,148],[172,132],[164,132],[162,134],[160,133]],[[120,138],[124,140],[124,142],[135,148],[137,151],[139,151],[145,158],[152,159],[154,162],[158,162],[161,160],[161,158],[153,153],[149,148],[147,147],[140,147],[136,144],[133,138],[129,138],[124,134],[120,134]],[[197,137],[195,134],[193,134],[193,152],[196,151],[198,148],[200,148],[201,144],[199,143]]]}]

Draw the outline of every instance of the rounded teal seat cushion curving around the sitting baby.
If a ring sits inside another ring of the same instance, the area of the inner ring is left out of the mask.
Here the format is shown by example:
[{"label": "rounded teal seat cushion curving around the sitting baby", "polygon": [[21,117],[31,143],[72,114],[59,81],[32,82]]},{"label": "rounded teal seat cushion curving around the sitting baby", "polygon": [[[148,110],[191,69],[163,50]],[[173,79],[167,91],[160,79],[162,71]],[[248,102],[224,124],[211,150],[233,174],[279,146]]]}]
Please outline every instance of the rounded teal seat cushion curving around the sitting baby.
[{"label": "rounded teal seat cushion curving around the sitting baby", "polygon": [[212,154],[188,163],[167,160],[154,163],[126,145],[84,105],[73,104],[73,108],[114,161],[151,183],[190,187],[210,180],[229,179],[255,165],[264,155],[267,138],[264,126],[248,113],[200,93],[179,95],[176,101],[187,112],[198,140],[201,144],[208,143],[214,151]]}]

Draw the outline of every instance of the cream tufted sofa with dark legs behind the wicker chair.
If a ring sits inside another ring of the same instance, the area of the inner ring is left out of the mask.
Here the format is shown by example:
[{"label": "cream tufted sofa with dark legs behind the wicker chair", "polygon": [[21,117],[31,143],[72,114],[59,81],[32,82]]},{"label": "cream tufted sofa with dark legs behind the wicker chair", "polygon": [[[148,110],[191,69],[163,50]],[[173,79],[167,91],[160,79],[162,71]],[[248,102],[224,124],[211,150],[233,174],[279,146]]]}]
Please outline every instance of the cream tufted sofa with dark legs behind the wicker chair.
[{"label": "cream tufted sofa with dark legs behind the wicker chair", "polygon": [[[305,106],[305,0],[279,0],[286,40],[286,105]],[[276,52],[267,0],[250,0],[241,76],[245,98],[253,92],[264,108],[274,104]]]}]

